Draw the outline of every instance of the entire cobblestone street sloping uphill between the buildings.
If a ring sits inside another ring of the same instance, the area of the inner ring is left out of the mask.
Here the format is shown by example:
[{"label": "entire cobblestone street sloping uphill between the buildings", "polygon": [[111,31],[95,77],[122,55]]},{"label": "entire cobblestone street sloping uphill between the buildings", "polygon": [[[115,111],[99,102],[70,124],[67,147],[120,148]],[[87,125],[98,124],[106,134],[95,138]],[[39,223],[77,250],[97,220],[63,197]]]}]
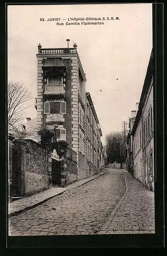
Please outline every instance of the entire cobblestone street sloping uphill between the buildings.
[{"label": "entire cobblestone street sloping uphill between the buildings", "polygon": [[108,169],[9,221],[10,236],[152,233],[154,193],[126,171]]}]

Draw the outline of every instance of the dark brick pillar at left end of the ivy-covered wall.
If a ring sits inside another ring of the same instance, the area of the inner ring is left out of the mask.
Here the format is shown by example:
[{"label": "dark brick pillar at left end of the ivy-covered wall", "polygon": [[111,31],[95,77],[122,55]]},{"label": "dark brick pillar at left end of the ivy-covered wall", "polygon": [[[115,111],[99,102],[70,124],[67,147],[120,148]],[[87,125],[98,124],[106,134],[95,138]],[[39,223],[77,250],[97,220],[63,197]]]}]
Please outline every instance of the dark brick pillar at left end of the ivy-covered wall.
[{"label": "dark brick pillar at left end of the ivy-covered wall", "polygon": [[[13,175],[17,174],[17,197],[25,195],[25,146],[26,142],[22,140],[14,140],[15,150],[15,167]],[[12,179],[13,179],[12,175]],[[15,177],[16,179],[16,177]]]}]

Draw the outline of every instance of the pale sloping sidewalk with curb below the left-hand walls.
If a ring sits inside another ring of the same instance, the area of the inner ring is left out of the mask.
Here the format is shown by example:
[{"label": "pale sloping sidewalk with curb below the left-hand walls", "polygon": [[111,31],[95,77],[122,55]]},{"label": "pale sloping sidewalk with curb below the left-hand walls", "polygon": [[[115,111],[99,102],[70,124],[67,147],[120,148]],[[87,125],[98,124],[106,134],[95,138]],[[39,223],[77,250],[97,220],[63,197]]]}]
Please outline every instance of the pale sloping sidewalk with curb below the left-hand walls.
[{"label": "pale sloping sidewalk with curb below the left-hand walls", "polygon": [[9,216],[14,216],[16,214],[19,214],[22,211],[32,209],[55,196],[63,194],[67,190],[71,190],[73,188],[77,188],[77,187],[80,187],[81,185],[86,184],[87,182],[96,179],[97,177],[105,174],[106,172],[107,172],[107,169],[105,169],[103,172],[101,172],[97,175],[94,175],[90,178],[76,181],[76,182],[68,185],[67,187],[51,187],[51,188],[49,188],[45,191],[42,191],[36,195],[30,196],[30,197],[25,197],[25,198],[19,199],[17,201],[14,201],[8,205]]}]

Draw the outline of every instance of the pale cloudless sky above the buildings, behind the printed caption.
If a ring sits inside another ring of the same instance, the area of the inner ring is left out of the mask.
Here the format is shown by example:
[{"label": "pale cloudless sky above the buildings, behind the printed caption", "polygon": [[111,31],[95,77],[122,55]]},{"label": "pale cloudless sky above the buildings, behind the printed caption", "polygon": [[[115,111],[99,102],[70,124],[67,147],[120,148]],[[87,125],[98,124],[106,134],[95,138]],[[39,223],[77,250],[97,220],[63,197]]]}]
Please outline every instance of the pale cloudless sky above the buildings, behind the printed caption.
[{"label": "pale cloudless sky above the buildings, behind the printed caption", "polygon": [[[71,17],[105,20],[99,20],[104,25],[66,25]],[[64,25],[47,22],[47,18],[60,18]],[[12,5],[8,6],[7,23],[8,80],[20,81],[32,92],[27,117],[37,115],[38,44],[65,48],[69,38],[69,47],[77,44],[102,143],[110,132],[122,131],[122,121],[128,121],[140,101],[146,76],[152,50],[152,4]]]}]

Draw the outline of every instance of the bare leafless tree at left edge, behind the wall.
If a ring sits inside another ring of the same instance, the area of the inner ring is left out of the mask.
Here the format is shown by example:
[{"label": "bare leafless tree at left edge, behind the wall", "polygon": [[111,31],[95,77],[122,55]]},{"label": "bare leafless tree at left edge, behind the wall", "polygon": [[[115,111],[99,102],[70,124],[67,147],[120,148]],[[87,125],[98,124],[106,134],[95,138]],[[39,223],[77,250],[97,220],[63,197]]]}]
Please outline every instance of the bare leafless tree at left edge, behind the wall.
[{"label": "bare leafless tree at left edge, behind the wall", "polygon": [[31,92],[20,82],[8,82],[8,129],[14,131],[25,117],[25,110],[30,105]]}]

